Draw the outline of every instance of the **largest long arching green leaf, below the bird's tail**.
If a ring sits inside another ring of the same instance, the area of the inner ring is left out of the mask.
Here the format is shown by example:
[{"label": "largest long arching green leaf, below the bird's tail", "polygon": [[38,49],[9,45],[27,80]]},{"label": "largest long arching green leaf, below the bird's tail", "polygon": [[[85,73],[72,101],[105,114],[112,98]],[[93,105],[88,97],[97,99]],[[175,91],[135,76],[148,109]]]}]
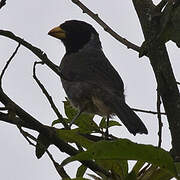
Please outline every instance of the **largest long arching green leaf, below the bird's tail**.
[{"label": "largest long arching green leaf, below the bird's tail", "polygon": [[100,141],[94,143],[86,152],[72,157],[72,160],[124,159],[140,160],[157,165],[176,176],[176,169],[170,154],[152,145],[133,143],[127,139]]}]

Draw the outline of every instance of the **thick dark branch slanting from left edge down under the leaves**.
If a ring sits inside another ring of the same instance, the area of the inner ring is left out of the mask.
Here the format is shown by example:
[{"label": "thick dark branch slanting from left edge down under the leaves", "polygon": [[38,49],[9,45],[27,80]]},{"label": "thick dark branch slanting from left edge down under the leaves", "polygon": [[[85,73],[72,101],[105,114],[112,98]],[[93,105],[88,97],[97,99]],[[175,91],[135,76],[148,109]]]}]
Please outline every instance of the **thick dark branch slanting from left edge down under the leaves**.
[{"label": "thick dark branch slanting from left edge down under the leaves", "polygon": [[[4,113],[0,113],[0,119],[3,120],[5,122],[12,123],[12,124],[16,124],[15,121],[20,125],[23,126],[23,124],[25,124],[24,127],[28,127],[30,129],[33,129],[39,133],[44,134],[44,136],[47,137],[47,139],[49,139],[49,141],[54,144],[61,152],[65,152],[67,154],[69,154],[70,156],[74,156],[77,153],[79,153],[78,150],[76,150],[75,148],[73,148],[71,145],[69,145],[68,143],[64,142],[62,139],[60,139],[57,134],[56,134],[56,130],[55,128],[52,127],[48,127],[45,126],[43,124],[41,124],[39,121],[37,121],[34,117],[32,117],[30,114],[28,114],[27,112],[25,112],[21,107],[19,107],[18,105],[16,105],[3,91],[2,89],[0,89],[0,101],[5,105],[8,106],[8,104],[13,104],[14,110],[16,112],[16,114],[20,117],[21,121],[17,122],[17,118],[14,117],[14,119],[9,119],[8,115],[5,115]],[[6,118],[7,116],[7,118]],[[17,125],[18,125],[17,124]],[[107,172],[105,169],[99,167],[97,164],[95,164],[93,161],[80,161],[83,165],[85,165],[86,167],[90,168],[92,171],[97,171],[100,173],[103,173],[104,175],[106,175],[107,177],[111,176],[111,174],[109,172]]]}]

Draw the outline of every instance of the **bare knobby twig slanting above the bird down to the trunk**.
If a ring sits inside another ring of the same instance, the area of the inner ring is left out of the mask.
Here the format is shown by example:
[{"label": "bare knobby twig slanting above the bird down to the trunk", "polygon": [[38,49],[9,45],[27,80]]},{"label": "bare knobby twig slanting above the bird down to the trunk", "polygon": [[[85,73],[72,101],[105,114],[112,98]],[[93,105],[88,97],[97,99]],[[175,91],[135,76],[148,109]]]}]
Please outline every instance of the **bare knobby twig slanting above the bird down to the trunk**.
[{"label": "bare knobby twig slanting above the bird down to the trunk", "polygon": [[88,9],[82,2],[79,0],[71,0],[74,4],[80,7],[83,13],[88,14],[91,18],[93,18],[103,29],[111,34],[116,40],[127,46],[129,49],[133,49],[137,52],[140,52],[140,47],[126,40],[125,38],[119,36],[112,28],[110,28],[101,18],[99,18],[98,14],[93,13],[90,9]]}]

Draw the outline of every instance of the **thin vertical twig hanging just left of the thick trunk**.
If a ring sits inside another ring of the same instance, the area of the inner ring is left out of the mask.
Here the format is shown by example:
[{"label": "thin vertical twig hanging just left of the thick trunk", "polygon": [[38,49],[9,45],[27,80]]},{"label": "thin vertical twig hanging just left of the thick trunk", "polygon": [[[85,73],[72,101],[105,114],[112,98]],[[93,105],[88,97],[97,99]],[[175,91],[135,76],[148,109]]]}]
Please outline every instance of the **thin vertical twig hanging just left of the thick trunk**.
[{"label": "thin vertical twig hanging just left of the thick trunk", "polygon": [[158,136],[159,136],[159,140],[158,140],[158,147],[161,147],[162,144],[162,119],[161,119],[161,96],[159,95],[158,91],[157,91],[157,118],[158,118],[158,126],[159,126],[159,131],[158,131]]}]

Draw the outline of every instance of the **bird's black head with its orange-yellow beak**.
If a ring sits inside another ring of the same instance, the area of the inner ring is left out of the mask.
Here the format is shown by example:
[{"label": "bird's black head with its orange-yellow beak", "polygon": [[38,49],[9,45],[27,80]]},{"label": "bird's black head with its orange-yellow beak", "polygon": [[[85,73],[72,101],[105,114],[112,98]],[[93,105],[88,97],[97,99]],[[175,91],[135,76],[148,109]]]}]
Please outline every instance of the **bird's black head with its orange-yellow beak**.
[{"label": "bird's black head with its orange-yellow beak", "polygon": [[60,39],[65,45],[67,53],[79,51],[88,44],[93,37],[95,37],[94,39],[97,46],[101,47],[97,31],[84,21],[66,21],[60,26],[51,29],[48,34]]}]

